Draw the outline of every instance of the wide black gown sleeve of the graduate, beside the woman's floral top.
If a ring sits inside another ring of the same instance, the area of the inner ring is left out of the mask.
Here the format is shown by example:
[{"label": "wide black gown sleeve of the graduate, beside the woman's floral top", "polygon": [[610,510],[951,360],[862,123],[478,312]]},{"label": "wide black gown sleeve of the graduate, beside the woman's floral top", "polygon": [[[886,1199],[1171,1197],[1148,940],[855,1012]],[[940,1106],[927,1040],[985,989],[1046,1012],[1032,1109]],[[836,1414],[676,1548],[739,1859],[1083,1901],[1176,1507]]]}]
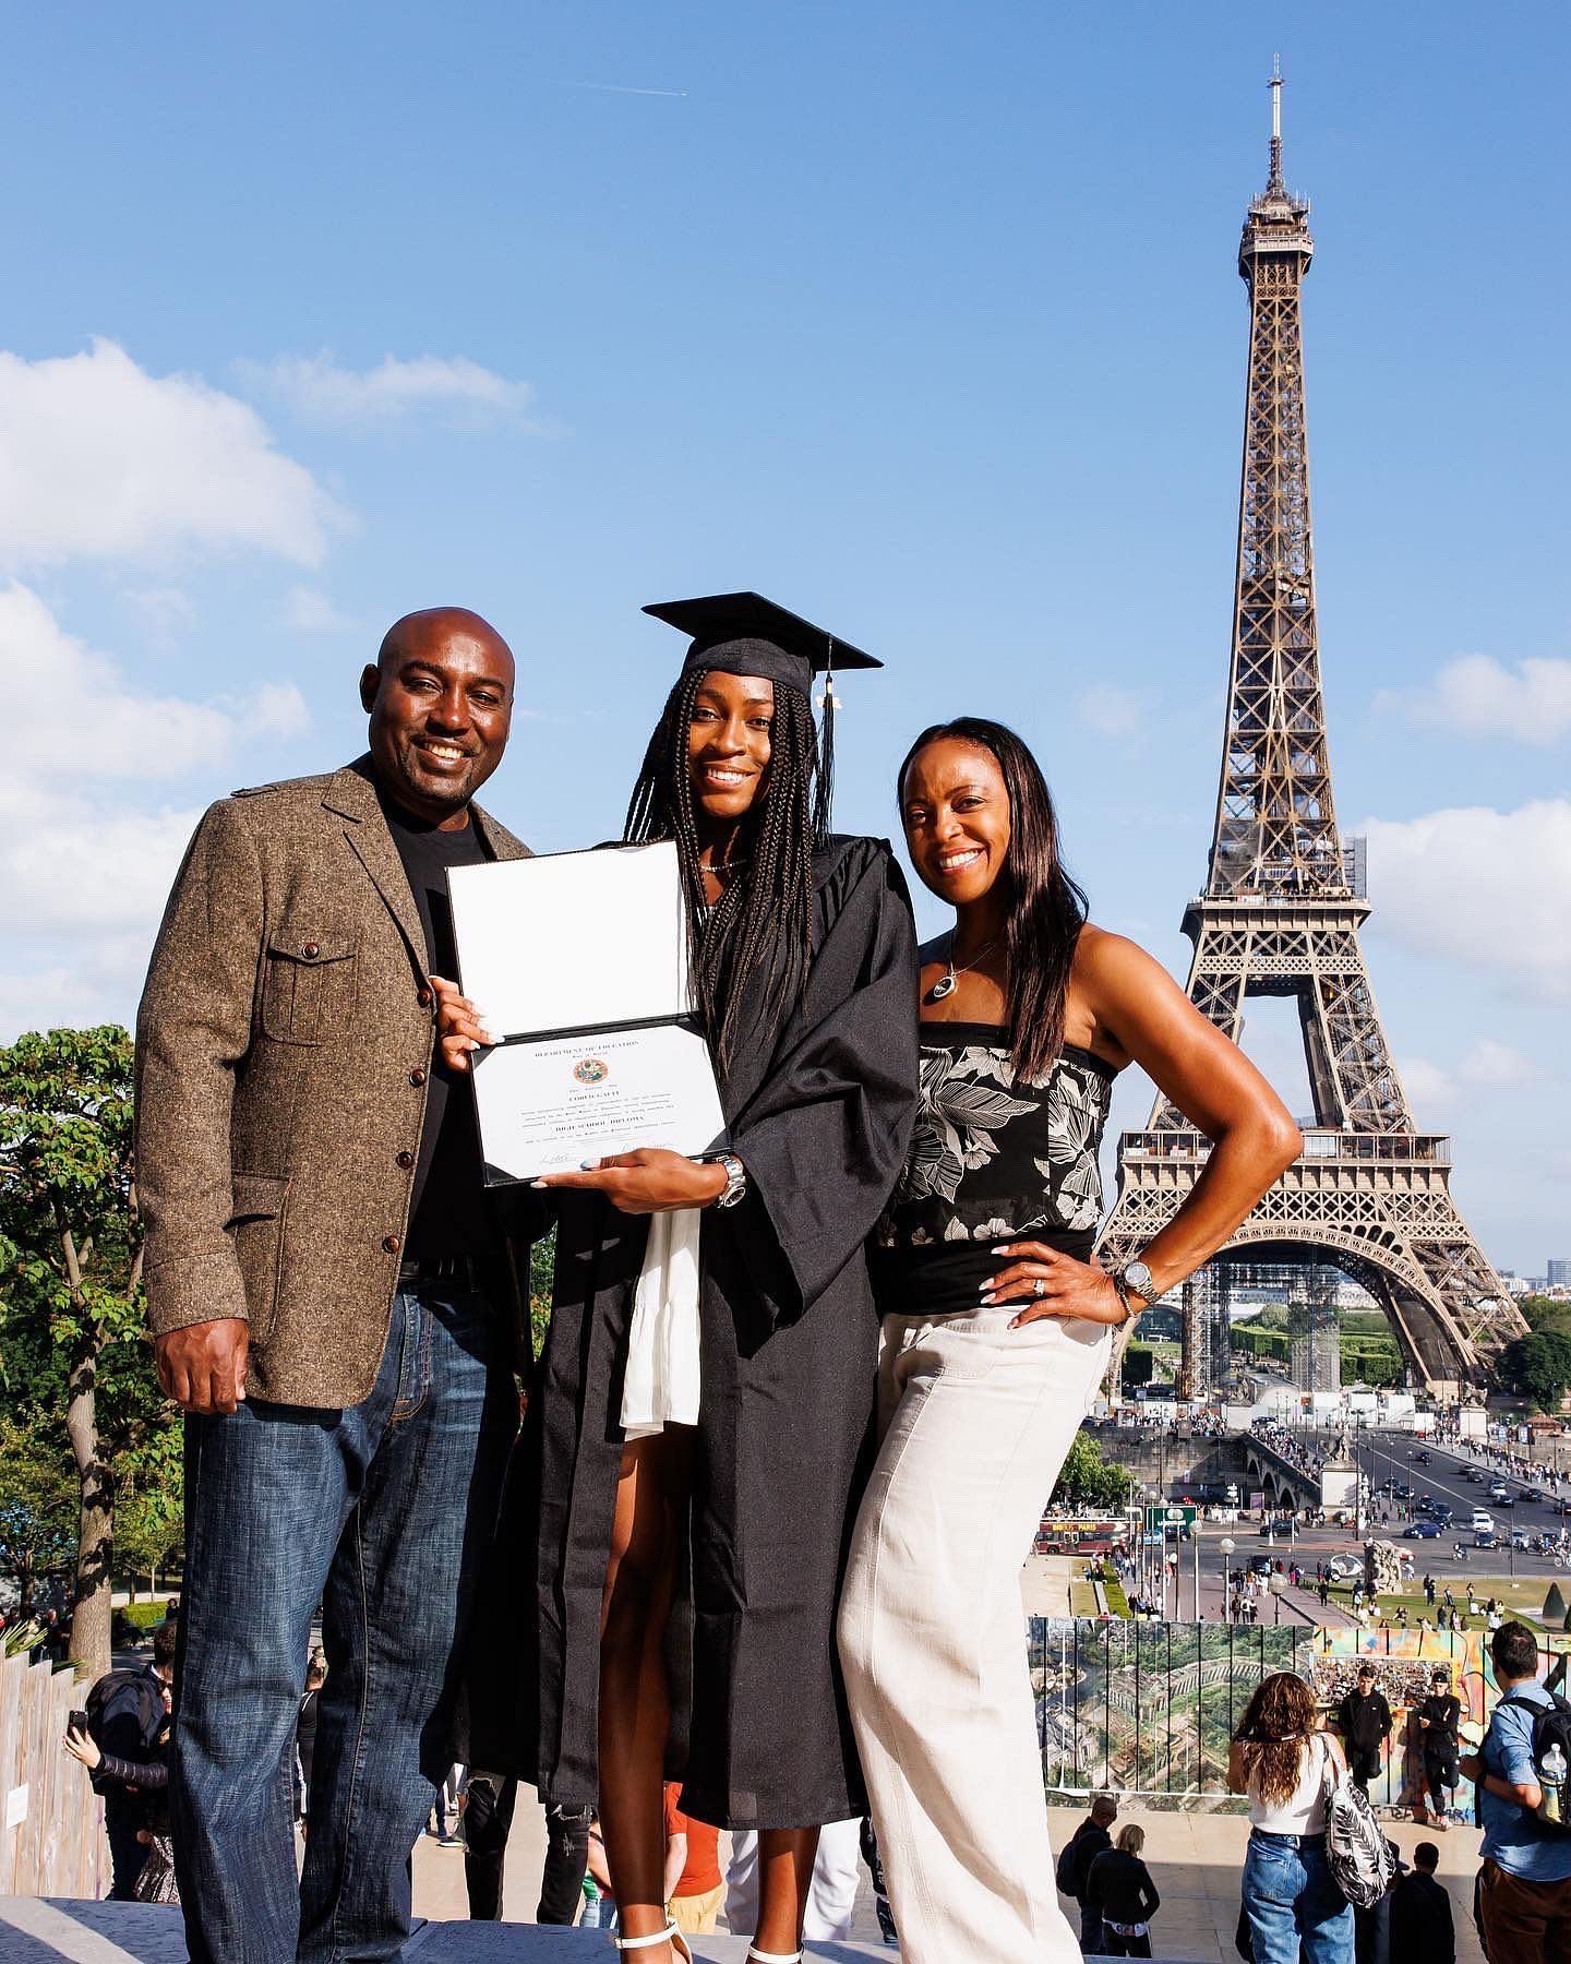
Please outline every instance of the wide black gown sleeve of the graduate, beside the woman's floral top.
[{"label": "wide black gown sleeve of the graduate, beside the woman's floral top", "polygon": [[801,1002],[731,1119],[746,1196],[711,1210],[776,1322],[807,1310],[860,1251],[905,1163],[917,1106],[917,937],[890,848],[852,841],[825,901]]}]

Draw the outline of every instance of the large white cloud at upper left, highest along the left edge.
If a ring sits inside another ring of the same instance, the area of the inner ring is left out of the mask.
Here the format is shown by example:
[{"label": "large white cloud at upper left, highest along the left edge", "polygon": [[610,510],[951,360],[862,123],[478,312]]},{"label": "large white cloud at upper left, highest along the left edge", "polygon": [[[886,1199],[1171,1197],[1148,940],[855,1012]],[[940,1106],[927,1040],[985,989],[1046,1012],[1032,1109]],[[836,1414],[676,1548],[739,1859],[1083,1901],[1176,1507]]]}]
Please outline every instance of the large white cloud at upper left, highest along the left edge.
[{"label": "large white cloud at upper left, highest along the left edge", "polygon": [[267,424],[196,375],[147,375],[114,342],[0,352],[0,568],[251,548],[314,566],[342,520]]}]

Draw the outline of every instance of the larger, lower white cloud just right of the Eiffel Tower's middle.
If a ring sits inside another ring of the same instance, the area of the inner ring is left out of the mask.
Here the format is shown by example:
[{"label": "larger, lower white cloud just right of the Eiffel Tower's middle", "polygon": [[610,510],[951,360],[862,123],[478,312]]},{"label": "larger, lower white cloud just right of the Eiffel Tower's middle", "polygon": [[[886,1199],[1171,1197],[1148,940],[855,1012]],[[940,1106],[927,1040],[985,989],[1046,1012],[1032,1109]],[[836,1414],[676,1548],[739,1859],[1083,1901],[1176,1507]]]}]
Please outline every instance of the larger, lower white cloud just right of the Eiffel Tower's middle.
[{"label": "larger, lower white cloud just right of the Eiffel Tower's middle", "polygon": [[1571,797],[1367,819],[1363,831],[1379,933],[1514,990],[1571,996]]}]

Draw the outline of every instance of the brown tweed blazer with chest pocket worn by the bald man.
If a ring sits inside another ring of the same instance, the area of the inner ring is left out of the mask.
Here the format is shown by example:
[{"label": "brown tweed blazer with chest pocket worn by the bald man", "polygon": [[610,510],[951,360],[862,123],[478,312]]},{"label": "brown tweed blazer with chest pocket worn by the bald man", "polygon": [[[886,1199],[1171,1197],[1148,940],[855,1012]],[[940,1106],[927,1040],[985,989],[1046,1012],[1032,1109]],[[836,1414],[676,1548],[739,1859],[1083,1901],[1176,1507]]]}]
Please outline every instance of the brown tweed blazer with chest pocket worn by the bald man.
[{"label": "brown tweed blazer with chest pocket worn by the bald man", "polygon": [[[473,807],[497,858],[528,846]],[[426,945],[371,760],[202,817],[137,1013],[137,1200],[155,1334],[251,1324],[247,1391],[375,1383],[426,1110]]]}]

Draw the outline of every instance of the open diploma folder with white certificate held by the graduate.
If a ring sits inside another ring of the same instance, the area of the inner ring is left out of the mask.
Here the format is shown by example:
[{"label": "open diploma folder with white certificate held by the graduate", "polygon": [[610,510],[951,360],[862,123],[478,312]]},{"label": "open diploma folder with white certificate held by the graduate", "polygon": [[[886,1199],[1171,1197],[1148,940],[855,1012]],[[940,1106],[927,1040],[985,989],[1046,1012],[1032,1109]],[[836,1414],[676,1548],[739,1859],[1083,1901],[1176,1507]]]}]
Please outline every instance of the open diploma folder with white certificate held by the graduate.
[{"label": "open diploma folder with white certificate held by the graduate", "polygon": [[487,1186],[725,1145],[674,843],[452,866],[448,896],[460,986],[497,1037],[471,1059]]}]

